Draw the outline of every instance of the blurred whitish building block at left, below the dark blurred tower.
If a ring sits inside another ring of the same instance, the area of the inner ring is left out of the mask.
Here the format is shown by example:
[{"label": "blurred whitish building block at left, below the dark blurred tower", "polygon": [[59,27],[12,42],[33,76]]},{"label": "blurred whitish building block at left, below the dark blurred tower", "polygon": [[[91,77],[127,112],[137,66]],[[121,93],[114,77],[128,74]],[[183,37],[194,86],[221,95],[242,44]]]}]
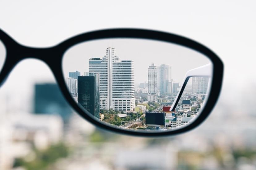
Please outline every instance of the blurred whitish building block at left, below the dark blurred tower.
[{"label": "blurred whitish building block at left, below the dark blurred tower", "polygon": [[58,115],[10,113],[0,120],[0,169],[12,169],[15,159],[25,158],[36,148],[43,151],[63,137]]}]

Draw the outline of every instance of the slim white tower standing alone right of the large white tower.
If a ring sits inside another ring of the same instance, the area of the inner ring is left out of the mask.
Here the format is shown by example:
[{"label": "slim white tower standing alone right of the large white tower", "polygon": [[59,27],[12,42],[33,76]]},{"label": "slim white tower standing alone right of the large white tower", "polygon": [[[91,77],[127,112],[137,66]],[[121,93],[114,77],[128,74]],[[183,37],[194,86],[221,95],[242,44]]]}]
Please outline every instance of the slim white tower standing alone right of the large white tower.
[{"label": "slim white tower standing alone right of the large white tower", "polygon": [[158,69],[154,64],[148,67],[148,96],[147,101],[155,101],[157,102],[157,77],[158,77]]}]

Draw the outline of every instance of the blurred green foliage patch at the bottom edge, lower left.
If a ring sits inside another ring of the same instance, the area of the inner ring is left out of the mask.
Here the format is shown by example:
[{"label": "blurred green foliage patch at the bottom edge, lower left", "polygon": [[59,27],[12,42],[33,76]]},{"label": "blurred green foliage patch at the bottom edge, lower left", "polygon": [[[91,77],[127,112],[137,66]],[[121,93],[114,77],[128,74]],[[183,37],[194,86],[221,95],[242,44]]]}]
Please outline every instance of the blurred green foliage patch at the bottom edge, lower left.
[{"label": "blurred green foliage patch at the bottom edge, lower left", "polygon": [[15,167],[23,167],[27,170],[49,169],[49,166],[59,158],[65,158],[69,155],[68,147],[64,143],[51,145],[46,150],[33,149],[35,158],[27,161],[25,158],[15,159]]}]

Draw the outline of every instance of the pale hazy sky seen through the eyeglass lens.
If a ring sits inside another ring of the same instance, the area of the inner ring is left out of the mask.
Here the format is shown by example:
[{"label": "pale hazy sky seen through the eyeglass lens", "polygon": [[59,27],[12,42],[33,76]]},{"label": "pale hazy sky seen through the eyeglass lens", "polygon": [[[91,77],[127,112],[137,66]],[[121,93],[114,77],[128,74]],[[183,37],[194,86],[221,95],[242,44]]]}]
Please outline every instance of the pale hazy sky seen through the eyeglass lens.
[{"label": "pale hazy sky seen through the eyeglass lens", "polygon": [[180,45],[143,39],[104,39],[71,47],[62,60],[63,74],[68,77],[68,72],[88,72],[89,58],[104,57],[109,46],[114,46],[120,60],[134,62],[135,84],[147,82],[147,69],[151,63],[155,66],[171,66],[171,78],[180,83],[188,70],[210,63],[210,60],[201,53]]}]

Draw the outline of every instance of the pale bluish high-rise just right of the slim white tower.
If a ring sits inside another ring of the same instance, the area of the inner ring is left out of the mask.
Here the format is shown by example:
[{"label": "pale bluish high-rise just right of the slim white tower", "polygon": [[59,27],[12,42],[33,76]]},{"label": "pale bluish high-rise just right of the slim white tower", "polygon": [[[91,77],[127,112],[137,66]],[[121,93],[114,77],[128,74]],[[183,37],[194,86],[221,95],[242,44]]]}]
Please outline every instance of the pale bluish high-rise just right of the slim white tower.
[{"label": "pale bluish high-rise just right of the slim white tower", "polygon": [[171,66],[162,64],[159,67],[158,77],[160,94],[168,93],[169,80],[171,80]]}]

